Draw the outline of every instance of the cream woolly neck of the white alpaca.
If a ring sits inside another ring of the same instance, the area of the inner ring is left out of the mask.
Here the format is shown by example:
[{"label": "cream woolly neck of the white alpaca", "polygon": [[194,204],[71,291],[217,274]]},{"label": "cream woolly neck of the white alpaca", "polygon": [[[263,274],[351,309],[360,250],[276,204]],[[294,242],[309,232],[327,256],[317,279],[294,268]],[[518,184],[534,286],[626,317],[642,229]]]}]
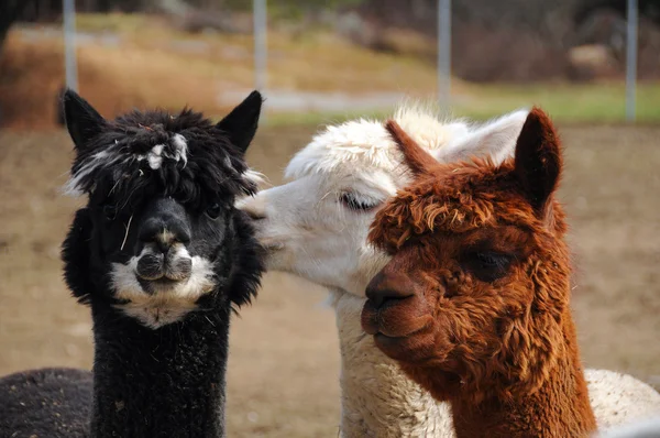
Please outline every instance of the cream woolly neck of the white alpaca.
[{"label": "cream woolly neck of the white alpaca", "polygon": [[365,298],[332,294],[341,348],[341,436],[452,437],[449,405],[406,377],[362,330]]}]

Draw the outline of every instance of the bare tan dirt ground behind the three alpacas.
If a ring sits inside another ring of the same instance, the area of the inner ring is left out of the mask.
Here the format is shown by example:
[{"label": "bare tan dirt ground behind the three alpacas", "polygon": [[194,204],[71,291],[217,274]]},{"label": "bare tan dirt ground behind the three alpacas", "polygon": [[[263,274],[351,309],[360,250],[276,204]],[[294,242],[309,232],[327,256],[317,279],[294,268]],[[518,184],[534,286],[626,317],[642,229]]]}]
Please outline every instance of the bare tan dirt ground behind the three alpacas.
[{"label": "bare tan dirt ground behind the three alpacas", "polygon": [[[314,128],[263,129],[249,162],[280,182]],[[561,127],[562,200],[575,253],[573,299],[590,368],[660,385],[660,128]],[[89,369],[91,325],[61,278],[59,244],[80,200],[61,196],[72,145],[64,131],[0,132],[0,375]],[[321,288],[270,273],[231,331],[229,432],[336,437],[339,352]]]}]

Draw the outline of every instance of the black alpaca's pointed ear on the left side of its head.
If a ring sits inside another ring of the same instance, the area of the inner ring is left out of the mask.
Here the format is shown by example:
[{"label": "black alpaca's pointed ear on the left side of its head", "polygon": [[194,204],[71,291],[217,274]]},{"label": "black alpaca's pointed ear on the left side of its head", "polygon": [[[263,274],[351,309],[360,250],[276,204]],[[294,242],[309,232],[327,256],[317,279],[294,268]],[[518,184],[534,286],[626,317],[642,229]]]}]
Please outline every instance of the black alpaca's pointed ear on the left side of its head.
[{"label": "black alpaca's pointed ear on the left side of its head", "polygon": [[67,89],[62,97],[64,120],[77,150],[82,150],[106,124],[106,119],[77,92]]}]

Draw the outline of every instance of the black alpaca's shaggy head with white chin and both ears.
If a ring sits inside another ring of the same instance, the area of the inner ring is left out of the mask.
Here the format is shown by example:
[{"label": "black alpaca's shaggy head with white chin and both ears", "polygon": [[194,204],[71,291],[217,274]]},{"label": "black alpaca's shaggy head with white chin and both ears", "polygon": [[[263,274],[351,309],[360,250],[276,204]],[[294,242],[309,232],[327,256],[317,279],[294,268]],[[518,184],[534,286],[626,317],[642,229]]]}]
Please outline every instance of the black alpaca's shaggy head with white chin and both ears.
[{"label": "black alpaca's shaggy head with white chin and both ears", "polygon": [[253,91],[217,124],[190,110],[106,120],[64,94],[76,151],[67,190],[88,195],[63,245],[80,302],[153,329],[250,302],[263,266],[234,200],[256,189],[243,155],[261,105]]}]

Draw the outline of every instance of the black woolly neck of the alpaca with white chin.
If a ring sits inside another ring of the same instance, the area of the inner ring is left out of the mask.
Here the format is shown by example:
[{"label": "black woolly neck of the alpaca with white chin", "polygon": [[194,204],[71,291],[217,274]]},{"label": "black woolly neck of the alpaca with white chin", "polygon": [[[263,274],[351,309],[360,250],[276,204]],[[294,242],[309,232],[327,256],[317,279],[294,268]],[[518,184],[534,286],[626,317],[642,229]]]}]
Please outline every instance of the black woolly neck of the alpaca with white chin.
[{"label": "black woolly neck of the alpaca with white chin", "polygon": [[152,330],[92,302],[92,437],[224,436],[229,309]]}]

